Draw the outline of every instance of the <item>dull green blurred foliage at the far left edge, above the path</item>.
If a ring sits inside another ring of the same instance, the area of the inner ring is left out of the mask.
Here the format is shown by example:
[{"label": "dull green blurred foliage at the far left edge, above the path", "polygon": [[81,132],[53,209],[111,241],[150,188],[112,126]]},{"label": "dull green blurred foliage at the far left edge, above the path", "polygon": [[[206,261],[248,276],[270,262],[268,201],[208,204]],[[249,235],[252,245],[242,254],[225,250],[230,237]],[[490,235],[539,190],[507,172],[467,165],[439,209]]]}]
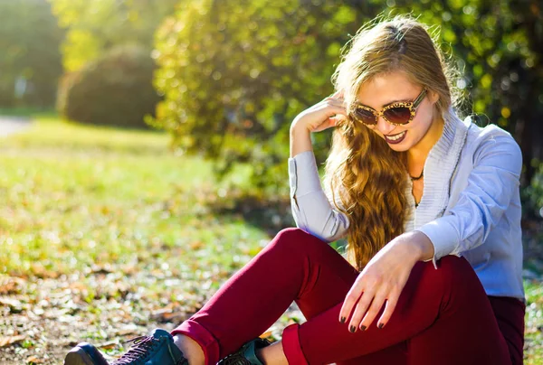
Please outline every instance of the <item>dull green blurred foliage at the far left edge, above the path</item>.
[{"label": "dull green blurred foliage at the far left edge, above the path", "polygon": [[0,1],[0,107],[54,105],[61,40],[45,0]]}]

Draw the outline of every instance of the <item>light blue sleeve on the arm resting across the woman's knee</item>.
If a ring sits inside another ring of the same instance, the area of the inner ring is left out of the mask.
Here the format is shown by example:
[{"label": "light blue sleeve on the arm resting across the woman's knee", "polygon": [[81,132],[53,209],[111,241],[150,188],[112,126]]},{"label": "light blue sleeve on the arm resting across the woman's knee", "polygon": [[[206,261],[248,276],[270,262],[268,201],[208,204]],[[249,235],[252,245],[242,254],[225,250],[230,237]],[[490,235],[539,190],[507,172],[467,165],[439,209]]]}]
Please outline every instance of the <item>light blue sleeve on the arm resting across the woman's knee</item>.
[{"label": "light blue sleeve on the arm resting across the woman's knee", "polygon": [[[475,140],[466,188],[446,215],[415,229],[433,243],[433,265],[484,243],[519,190],[522,154],[509,133],[489,128]],[[429,260],[428,260],[429,261]]]}]

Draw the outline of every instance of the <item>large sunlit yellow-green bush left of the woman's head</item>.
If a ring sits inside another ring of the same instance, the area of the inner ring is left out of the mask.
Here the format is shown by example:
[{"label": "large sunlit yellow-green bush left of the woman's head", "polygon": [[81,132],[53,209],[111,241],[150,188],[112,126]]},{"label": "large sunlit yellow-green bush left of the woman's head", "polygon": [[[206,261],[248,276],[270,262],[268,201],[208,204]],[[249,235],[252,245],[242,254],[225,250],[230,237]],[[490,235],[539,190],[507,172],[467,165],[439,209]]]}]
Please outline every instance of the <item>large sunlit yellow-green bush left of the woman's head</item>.
[{"label": "large sunlit yellow-green bush left of the woman's head", "polygon": [[291,120],[332,92],[334,62],[356,19],[346,5],[314,3],[179,6],[157,32],[155,85],[166,100],[154,124],[183,150],[213,158],[219,173],[250,163],[255,186],[285,194]]}]

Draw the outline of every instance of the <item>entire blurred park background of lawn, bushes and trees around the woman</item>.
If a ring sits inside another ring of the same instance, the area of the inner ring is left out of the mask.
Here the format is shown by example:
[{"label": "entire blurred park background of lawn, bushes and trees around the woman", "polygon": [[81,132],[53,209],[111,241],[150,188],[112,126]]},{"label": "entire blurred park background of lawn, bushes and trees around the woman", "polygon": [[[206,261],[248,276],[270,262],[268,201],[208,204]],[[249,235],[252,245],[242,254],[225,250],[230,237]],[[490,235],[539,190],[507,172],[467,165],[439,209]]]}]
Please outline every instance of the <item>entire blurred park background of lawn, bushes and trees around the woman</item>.
[{"label": "entire blurred park background of lawn, bushes and trees around the woman", "polygon": [[539,0],[0,0],[0,363],[114,355],[194,313],[294,224],[289,126],[333,92],[342,47],[405,13],[461,70],[460,114],[522,149],[525,360],[543,363]]}]

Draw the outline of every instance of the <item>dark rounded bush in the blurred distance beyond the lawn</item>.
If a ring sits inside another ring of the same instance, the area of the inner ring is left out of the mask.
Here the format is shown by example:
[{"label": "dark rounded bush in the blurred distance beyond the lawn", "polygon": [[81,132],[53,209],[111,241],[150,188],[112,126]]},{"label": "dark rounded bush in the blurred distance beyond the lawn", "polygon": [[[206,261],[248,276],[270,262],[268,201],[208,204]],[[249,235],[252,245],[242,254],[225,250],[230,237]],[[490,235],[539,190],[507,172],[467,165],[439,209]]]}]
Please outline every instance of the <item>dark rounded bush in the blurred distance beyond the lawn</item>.
[{"label": "dark rounded bush in the blurred distance beyond the lawn", "polygon": [[94,125],[146,127],[159,97],[153,89],[155,62],[136,46],[112,49],[65,75],[58,95],[63,117]]}]

